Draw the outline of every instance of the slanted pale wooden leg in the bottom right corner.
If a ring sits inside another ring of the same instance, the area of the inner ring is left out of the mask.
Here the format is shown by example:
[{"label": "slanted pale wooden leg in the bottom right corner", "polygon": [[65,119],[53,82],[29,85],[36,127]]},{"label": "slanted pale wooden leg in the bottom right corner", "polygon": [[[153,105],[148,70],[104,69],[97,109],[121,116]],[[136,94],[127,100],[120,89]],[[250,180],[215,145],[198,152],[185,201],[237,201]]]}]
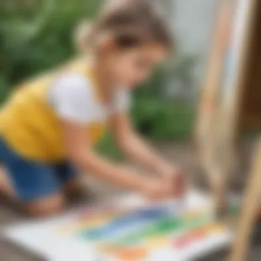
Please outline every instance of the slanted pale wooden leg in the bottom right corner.
[{"label": "slanted pale wooden leg in the bottom right corner", "polygon": [[258,212],[258,196],[261,188],[261,140],[258,142],[252,164],[242,206],[242,216],[238,223],[236,240],[229,261],[244,261],[247,255],[251,229]]}]

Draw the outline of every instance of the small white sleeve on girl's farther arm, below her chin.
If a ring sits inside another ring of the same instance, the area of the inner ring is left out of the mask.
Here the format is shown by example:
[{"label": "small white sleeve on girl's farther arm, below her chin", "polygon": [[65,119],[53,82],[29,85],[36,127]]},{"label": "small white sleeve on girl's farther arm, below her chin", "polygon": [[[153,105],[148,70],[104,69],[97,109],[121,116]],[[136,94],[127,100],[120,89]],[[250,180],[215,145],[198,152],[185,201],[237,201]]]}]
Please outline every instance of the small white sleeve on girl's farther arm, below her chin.
[{"label": "small white sleeve on girl's farther arm, below her chin", "polygon": [[127,112],[131,107],[131,93],[126,89],[118,89],[115,93],[113,113]]}]

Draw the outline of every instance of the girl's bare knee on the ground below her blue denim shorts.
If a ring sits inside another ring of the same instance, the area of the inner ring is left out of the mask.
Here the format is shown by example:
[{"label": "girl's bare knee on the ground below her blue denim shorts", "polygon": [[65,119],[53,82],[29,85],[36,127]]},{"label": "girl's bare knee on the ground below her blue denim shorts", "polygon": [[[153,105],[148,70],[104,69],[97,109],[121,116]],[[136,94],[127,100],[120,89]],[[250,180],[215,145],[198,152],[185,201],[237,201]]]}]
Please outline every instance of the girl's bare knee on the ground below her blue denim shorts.
[{"label": "girl's bare knee on the ground below her blue denim shorts", "polygon": [[54,216],[65,209],[65,198],[62,194],[48,196],[35,203],[27,204],[27,212],[32,216]]}]

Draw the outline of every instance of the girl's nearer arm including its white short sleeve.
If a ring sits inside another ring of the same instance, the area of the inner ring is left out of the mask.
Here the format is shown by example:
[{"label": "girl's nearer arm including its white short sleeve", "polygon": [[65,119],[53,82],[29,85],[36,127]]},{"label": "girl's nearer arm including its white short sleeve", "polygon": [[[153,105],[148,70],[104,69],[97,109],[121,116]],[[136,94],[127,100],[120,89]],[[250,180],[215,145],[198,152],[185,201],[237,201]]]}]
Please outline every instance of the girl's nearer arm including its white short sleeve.
[{"label": "girl's nearer arm including its white short sleeve", "polygon": [[86,126],[93,122],[92,113],[97,110],[90,82],[78,74],[61,76],[54,82],[49,93],[52,105],[60,120],[65,139],[67,157],[83,172],[123,188],[139,191],[150,198],[170,196],[170,188],[163,179],[140,175],[96,154],[87,137]]}]

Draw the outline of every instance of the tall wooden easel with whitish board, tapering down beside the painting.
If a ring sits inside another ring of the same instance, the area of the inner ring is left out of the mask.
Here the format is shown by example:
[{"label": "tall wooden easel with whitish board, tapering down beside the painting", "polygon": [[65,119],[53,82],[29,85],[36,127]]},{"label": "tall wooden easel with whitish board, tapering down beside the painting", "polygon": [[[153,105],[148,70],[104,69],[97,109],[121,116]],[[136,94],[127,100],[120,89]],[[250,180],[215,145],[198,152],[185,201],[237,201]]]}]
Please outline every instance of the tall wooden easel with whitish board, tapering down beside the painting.
[{"label": "tall wooden easel with whitish board, tapering down beside the painting", "polygon": [[[246,87],[247,60],[249,59],[253,32],[251,28],[253,27],[254,15],[252,13],[257,1],[219,1],[220,8],[214,27],[213,45],[196,125],[199,160],[209,179],[217,209],[222,209],[226,205],[227,183],[229,183],[229,176],[236,157],[235,141],[238,135],[242,93]],[[246,12],[242,17],[245,19],[243,23],[245,30],[239,34],[240,44],[237,46],[237,32],[238,28],[240,30],[240,25],[235,23],[233,17],[236,16],[236,11],[242,12],[245,9]],[[238,48],[240,55],[234,57],[236,60],[236,62],[234,61],[236,63],[234,73],[224,76],[227,54],[231,52],[232,47]],[[224,90],[220,91],[220,89]]]}]

